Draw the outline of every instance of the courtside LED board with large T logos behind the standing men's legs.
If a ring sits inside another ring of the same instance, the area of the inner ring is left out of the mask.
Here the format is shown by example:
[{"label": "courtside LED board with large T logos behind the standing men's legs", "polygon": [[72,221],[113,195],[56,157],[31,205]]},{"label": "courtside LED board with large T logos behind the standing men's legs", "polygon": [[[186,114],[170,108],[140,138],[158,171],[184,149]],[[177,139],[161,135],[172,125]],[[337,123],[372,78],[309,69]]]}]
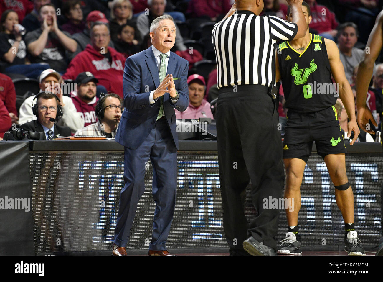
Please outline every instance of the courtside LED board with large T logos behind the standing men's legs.
[{"label": "courtside LED board with large T logos behind the standing men's legs", "polygon": [[[57,145],[67,141],[55,142]],[[200,142],[200,147],[203,144]],[[228,247],[222,222],[217,152],[197,149],[178,152],[177,198],[168,249]],[[124,186],[123,158],[123,152],[116,150],[30,152],[37,254],[111,250],[119,194]],[[149,160],[145,168],[146,190],[138,204],[127,249],[148,249],[151,240],[155,204]],[[378,150],[348,153],[346,169],[354,191],[358,237],[363,245],[377,245],[382,155]],[[251,182],[245,203],[249,220],[257,213],[249,196],[250,187]],[[335,203],[334,185],[322,158],[315,153],[304,169],[301,196],[298,224],[304,246],[343,244],[343,220]],[[264,199],[265,208],[281,211],[277,241],[285,237],[287,229],[280,204],[281,199]]]}]

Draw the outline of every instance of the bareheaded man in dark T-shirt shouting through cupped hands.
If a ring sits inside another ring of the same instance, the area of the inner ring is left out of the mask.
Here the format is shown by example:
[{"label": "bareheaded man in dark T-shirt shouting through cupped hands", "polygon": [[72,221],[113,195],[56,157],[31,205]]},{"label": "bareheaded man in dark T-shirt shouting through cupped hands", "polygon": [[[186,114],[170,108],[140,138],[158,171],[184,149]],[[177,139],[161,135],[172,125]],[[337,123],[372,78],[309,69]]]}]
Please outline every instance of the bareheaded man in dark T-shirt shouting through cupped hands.
[{"label": "bareheaded man in dark T-shirt shouting through cupped hands", "polygon": [[64,73],[67,62],[65,50],[74,52],[77,43],[66,31],[57,26],[56,9],[52,4],[41,6],[39,11],[41,28],[25,36],[25,43],[31,56],[31,63],[48,63],[59,73]]}]

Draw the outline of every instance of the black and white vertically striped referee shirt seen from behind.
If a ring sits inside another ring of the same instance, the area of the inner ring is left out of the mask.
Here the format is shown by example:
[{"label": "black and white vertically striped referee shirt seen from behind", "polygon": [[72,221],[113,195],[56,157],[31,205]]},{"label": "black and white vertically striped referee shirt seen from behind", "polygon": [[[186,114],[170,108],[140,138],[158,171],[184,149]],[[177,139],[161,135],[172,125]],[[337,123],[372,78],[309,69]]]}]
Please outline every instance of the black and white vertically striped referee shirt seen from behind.
[{"label": "black and white vertically striped referee shirt seen from behind", "polygon": [[217,23],[211,40],[216,52],[218,88],[275,84],[275,43],[293,39],[297,31],[295,23],[246,10]]}]

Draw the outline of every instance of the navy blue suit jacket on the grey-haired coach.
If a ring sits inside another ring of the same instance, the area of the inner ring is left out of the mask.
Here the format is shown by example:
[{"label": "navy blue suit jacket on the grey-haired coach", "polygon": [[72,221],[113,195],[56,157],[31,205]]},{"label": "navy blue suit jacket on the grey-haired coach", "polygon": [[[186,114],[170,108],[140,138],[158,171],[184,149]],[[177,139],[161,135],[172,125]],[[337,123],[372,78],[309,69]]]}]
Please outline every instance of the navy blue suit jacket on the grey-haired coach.
[{"label": "navy blue suit jacket on the grey-haired coach", "polygon": [[[174,109],[184,111],[189,105],[187,84],[189,63],[170,52],[167,74],[173,74],[175,89],[180,95],[173,104],[170,94],[164,94],[164,113],[178,149]],[[130,56],[125,61],[123,76],[124,112],[118,125],[115,140],[130,149],[138,148],[155,126],[160,109],[160,99],[150,104],[150,92],[159,86],[159,71],[152,47]]]}]

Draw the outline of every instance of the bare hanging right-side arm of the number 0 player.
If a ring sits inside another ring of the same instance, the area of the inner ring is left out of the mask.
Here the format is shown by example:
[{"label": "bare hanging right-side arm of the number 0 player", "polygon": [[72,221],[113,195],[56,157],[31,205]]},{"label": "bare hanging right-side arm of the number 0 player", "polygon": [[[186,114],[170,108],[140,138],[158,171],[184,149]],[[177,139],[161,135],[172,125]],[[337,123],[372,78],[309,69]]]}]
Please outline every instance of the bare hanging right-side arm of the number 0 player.
[{"label": "bare hanging right-side arm of the number 0 player", "polygon": [[350,137],[351,131],[354,131],[354,139],[352,139],[350,142],[350,145],[353,145],[360,133],[357,119],[355,117],[354,95],[352,94],[350,83],[347,81],[346,75],[344,73],[343,64],[340,61],[338,47],[334,41],[328,40],[326,38],[324,39],[324,43],[326,44],[327,56],[329,57],[332,76],[334,77],[335,82],[339,85],[339,97],[342,100],[347,115],[350,119],[349,123],[347,124],[347,136]]}]

